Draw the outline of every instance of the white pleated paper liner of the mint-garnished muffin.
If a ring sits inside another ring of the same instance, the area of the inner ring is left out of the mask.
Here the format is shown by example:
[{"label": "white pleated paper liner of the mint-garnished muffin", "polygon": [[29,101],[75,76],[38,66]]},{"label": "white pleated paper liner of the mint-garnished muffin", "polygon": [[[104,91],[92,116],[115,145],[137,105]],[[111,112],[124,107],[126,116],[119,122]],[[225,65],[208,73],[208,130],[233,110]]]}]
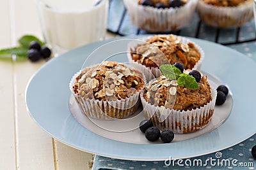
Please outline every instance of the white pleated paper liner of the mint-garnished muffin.
[{"label": "white pleated paper liner of the mint-garnished muffin", "polygon": [[211,122],[217,96],[216,90],[211,90],[211,96],[212,101],[200,108],[191,111],[177,111],[163,106],[154,106],[145,100],[143,92],[140,94],[145,117],[152,120],[154,126],[161,131],[168,129],[175,134],[195,132]]}]

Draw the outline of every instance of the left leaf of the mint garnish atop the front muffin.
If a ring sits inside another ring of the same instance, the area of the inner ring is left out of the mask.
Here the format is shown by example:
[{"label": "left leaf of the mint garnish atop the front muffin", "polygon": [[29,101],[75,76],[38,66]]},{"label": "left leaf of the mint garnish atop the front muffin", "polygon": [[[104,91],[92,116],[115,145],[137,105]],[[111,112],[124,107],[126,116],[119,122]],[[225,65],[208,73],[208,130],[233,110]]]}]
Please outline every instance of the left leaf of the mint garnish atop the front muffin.
[{"label": "left leaf of the mint garnish atop the front muffin", "polygon": [[161,73],[170,80],[177,80],[181,74],[180,69],[170,64],[164,64],[160,66]]}]

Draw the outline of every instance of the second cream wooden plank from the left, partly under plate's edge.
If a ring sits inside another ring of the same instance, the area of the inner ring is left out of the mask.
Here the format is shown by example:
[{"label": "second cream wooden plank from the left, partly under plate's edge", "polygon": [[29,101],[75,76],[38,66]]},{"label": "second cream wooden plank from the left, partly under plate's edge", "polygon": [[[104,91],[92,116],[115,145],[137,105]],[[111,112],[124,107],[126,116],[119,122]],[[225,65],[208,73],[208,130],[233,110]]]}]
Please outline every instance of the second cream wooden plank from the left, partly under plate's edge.
[{"label": "second cream wooden plank from the left, partly under plate's edge", "polygon": [[[36,4],[34,0],[9,0],[13,14],[12,43],[24,34],[42,37]],[[11,22],[12,23],[12,22]],[[13,62],[15,92],[15,127],[17,143],[17,168],[55,169],[53,161],[52,138],[31,119],[26,110],[24,92],[29,78],[45,61],[31,63]]]}]

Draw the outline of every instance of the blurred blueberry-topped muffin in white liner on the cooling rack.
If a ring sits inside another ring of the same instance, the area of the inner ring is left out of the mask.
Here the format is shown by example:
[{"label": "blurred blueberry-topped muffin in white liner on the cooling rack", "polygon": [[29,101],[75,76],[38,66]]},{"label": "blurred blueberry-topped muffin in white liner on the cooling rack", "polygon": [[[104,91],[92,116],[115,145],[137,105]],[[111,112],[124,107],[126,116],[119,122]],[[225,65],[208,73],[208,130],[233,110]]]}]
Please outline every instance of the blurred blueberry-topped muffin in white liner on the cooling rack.
[{"label": "blurred blueberry-topped muffin in white liner on the cooling rack", "polygon": [[132,24],[147,32],[170,32],[189,25],[196,3],[197,0],[124,0]]}]

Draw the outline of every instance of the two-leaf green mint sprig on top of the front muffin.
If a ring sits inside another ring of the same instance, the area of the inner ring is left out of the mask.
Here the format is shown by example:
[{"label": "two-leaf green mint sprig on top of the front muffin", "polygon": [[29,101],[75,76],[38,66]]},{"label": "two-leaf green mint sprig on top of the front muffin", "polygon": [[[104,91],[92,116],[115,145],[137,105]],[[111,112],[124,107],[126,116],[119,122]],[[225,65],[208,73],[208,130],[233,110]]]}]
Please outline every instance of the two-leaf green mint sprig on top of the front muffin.
[{"label": "two-leaf green mint sprig on top of the front muffin", "polygon": [[179,86],[184,86],[187,89],[198,89],[199,85],[196,79],[185,73],[181,73],[180,69],[170,64],[160,66],[161,73],[169,80],[177,80]]}]

